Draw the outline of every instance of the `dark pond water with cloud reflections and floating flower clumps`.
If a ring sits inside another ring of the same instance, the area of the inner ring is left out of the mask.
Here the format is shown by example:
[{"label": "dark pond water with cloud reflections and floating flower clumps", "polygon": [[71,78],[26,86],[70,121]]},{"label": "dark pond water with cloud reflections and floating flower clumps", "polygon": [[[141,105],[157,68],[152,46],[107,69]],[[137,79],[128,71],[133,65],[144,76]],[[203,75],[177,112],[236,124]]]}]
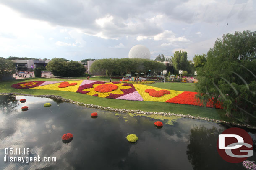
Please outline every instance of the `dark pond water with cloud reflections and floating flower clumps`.
[{"label": "dark pond water with cloud reflections and floating flower clumps", "polygon": [[[25,103],[20,103],[22,98]],[[52,106],[44,107],[47,102]],[[29,110],[21,111],[23,106]],[[96,119],[91,118],[92,112],[98,113]],[[154,127],[158,120],[164,124],[161,129]],[[241,170],[242,163],[225,162],[217,152],[218,135],[227,128],[204,120],[109,112],[48,98],[0,95],[0,169]],[[245,130],[256,140],[255,130]],[[70,143],[62,142],[65,133],[73,134]],[[129,143],[128,134],[136,134],[138,141]],[[5,157],[40,157],[41,162],[5,162]],[[44,162],[44,157],[50,161]],[[255,150],[248,160],[256,160]]]}]

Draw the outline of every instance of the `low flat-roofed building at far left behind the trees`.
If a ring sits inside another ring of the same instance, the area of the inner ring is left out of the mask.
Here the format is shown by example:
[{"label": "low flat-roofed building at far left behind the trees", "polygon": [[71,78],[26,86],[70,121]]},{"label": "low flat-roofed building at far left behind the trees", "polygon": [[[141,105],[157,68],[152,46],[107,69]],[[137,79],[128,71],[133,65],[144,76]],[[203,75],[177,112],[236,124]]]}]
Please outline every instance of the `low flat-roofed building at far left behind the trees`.
[{"label": "low flat-roofed building at far left behind the trees", "polygon": [[31,71],[34,68],[45,68],[50,60],[12,60],[18,71]]}]

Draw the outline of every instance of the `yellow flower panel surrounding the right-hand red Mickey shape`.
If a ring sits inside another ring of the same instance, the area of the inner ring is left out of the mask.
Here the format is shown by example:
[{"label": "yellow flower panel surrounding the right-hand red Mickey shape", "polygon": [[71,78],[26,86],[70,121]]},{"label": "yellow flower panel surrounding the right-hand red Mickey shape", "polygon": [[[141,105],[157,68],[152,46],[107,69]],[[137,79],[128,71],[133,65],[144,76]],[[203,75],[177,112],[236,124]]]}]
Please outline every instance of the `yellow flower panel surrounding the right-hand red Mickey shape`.
[{"label": "yellow flower panel surrounding the right-hand red Mickey shape", "polygon": [[[141,97],[143,98],[144,101],[165,102],[165,101],[183,93],[183,91],[161,89],[161,88],[158,88],[158,87],[146,86],[146,85],[142,85],[142,84],[133,84],[133,86],[138,91],[138,93],[141,95]],[[155,89],[156,91],[167,90],[167,91],[170,91],[170,94],[165,94],[162,97],[152,97],[152,96],[149,96],[149,93],[145,92],[146,89]]]}]

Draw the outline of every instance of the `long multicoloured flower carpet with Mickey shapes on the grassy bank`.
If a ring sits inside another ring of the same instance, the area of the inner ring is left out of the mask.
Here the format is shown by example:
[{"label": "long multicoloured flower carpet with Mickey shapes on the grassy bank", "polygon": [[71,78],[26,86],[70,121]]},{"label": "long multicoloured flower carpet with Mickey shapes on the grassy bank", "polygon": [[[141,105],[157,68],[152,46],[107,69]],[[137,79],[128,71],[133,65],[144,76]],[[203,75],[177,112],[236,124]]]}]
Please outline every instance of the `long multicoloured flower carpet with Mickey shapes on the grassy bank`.
[{"label": "long multicoloured flower carpet with Mickey shapes on the grassy bank", "polygon": [[[196,92],[161,89],[143,84],[129,84],[120,82],[105,83],[103,81],[91,80],[30,81],[13,84],[12,87],[15,89],[71,91],[109,99],[158,101],[203,106],[203,104],[196,99]],[[209,99],[206,107],[222,109],[222,104],[220,102],[213,104],[212,100]]]}]

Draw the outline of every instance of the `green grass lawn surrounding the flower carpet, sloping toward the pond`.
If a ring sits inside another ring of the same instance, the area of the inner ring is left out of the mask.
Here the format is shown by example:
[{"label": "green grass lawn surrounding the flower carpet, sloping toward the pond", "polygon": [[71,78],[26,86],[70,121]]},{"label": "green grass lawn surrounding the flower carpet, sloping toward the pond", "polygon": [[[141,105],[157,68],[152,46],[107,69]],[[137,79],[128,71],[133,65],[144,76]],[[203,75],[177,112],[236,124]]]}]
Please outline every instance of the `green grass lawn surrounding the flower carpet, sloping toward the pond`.
[{"label": "green grass lawn surrounding the flower carpet, sloping toward the pond", "polygon": [[[151,111],[151,112],[171,112],[176,114],[191,114],[192,116],[201,116],[208,117],[211,119],[217,120],[225,120],[232,121],[230,118],[225,117],[225,112],[221,109],[212,109],[206,107],[198,107],[191,105],[183,105],[183,104],[172,104],[172,103],[164,103],[164,102],[153,102],[153,101],[127,101],[127,100],[117,100],[117,99],[105,99],[100,97],[89,96],[80,93],[73,93],[68,91],[54,91],[54,90],[37,90],[37,89],[14,89],[11,87],[12,84],[23,82],[23,81],[60,81],[60,79],[47,79],[47,78],[30,78],[26,80],[14,80],[14,81],[5,81],[0,83],[0,92],[17,92],[17,93],[25,93],[25,94],[33,94],[33,95],[43,95],[43,94],[52,94],[62,96],[66,99],[71,99],[74,101],[83,102],[86,104],[96,104],[104,107],[112,107],[112,108],[123,108],[123,109],[133,109],[133,110],[143,110],[143,111]],[[62,81],[68,81],[62,79]],[[69,80],[70,81],[70,80]],[[172,89],[180,91],[186,91],[190,89],[194,91],[193,84],[178,84],[178,83],[155,83],[151,84],[152,86],[157,86],[165,89]],[[168,86],[169,85],[169,86]],[[168,88],[170,87],[170,88]],[[184,89],[185,88],[185,89]]]}]

